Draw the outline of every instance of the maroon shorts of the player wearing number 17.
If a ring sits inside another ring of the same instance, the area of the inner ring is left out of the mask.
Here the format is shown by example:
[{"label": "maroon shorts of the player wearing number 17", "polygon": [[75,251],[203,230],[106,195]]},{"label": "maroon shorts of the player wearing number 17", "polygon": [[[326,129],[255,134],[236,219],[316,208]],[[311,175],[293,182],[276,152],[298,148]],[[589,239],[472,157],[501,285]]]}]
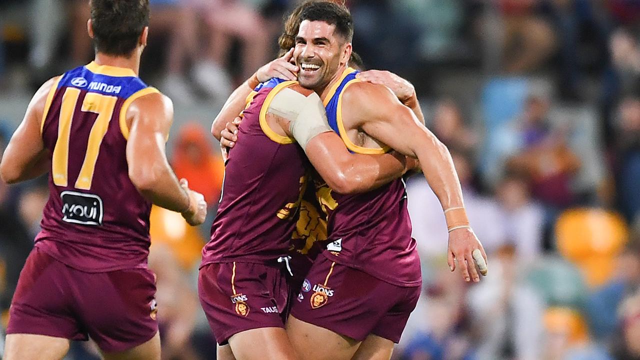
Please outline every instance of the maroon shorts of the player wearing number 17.
[{"label": "maroon shorts of the player wearing number 17", "polygon": [[88,273],[34,247],[9,311],[8,334],[88,340],[121,352],[156,335],[156,279],[145,268]]}]

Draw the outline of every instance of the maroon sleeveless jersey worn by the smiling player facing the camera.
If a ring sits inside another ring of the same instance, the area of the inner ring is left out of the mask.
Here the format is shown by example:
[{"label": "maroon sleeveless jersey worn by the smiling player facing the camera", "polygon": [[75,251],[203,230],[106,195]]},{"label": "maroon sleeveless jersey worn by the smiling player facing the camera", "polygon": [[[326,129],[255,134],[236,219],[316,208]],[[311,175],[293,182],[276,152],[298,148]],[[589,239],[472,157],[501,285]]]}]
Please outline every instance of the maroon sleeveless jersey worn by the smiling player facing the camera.
[{"label": "maroon sleeveless jersey worn by the smiling player facing the camera", "polygon": [[[382,154],[388,148],[359,147],[344,133],[340,102],[344,89],[359,81],[356,74],[353,69],[345,70],[333,86],[333,93],[324,102],[327,119],[349,151]],[[417,286],[422,282],[403,179],[354,195],[333,193],[325,186],[319,188],[317,195],[328,214],[329,238],[324,251],[327,258],[397,286]]]}]

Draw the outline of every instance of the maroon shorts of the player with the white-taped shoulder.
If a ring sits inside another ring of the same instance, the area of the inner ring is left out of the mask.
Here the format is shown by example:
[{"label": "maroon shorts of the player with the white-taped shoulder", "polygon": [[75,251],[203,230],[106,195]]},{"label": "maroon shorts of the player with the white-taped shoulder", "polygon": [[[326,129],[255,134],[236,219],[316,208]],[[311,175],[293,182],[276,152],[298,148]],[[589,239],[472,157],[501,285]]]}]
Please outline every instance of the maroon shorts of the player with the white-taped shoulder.
[{"label": "maroon shorts of the player with the white-taped shoulder", "polygon": [[250,329],[284,328],[289,315],[285,272],[282,266],[241,262],[200,268],[200,304],[218,344]]}]

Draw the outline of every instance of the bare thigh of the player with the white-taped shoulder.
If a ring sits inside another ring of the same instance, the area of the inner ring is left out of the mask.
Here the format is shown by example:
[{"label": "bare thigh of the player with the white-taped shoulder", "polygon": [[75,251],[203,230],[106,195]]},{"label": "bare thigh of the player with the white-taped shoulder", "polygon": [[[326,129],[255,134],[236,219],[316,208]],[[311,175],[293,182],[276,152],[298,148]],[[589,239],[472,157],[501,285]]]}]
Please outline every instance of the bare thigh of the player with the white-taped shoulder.
[{"label": "bare thigh of the player with the white-taped shoulder", "polygon": [[238,332],[229,338],[229,345],[237,360],[300,359],[282,327],[261,327]]}]

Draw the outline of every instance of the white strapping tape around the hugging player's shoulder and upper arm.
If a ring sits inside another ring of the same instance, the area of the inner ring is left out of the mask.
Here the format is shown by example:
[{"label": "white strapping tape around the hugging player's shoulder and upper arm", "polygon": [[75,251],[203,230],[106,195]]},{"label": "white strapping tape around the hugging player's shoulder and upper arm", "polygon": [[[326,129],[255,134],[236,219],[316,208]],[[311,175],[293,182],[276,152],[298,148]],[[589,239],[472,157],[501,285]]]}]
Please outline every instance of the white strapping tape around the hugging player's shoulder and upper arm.
[{"label": "white strapping tape around the hugging player's shoulder and upper arm", "polygon": [[324,105],[315,92],[305,96],[285,88],[273,97],[268,112],[289,120],[289,131],[305,150],[307,143],[316,135],[332,131]]}]

